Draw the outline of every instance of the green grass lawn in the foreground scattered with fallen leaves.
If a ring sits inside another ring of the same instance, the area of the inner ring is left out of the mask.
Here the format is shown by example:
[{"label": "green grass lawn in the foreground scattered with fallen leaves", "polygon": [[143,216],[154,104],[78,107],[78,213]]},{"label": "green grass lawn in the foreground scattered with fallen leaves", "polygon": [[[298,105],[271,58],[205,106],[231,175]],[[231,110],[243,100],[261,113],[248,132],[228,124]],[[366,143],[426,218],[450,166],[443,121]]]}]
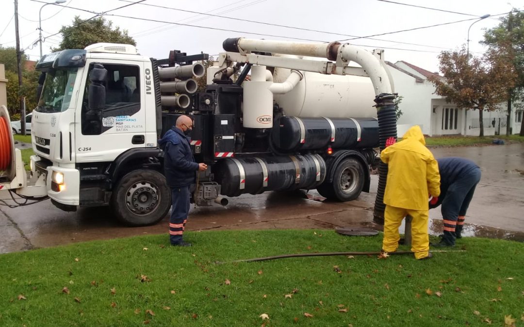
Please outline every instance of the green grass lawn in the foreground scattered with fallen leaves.
[{"label": "green grass lawn in the foreground scattered with fallen leaves", "polygon": [[523,243],[466,238],[459,241],[466,252],[425,261],[330,256],[217,265],[288,253],[377,251],[381,235],[186,234],[192,247],[172,247],[165,234],[0,255],[0,325],[503,326],[510,315],[522,324]]}]

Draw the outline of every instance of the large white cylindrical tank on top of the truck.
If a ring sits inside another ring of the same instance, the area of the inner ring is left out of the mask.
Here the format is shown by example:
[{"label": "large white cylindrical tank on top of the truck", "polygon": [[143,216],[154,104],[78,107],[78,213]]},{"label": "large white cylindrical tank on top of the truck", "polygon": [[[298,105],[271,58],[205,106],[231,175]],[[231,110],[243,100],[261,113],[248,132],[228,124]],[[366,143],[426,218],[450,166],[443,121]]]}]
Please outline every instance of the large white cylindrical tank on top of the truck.
[{"label": "large white cylindrical tank on top of the truck", "polygon": [[[275,68],[275,83],[282,83],[289,69]],[[302,72],[304,78],[286,94],[275,94],[275,102],[287,116],[297,117],[373,117],[375,91],[368,77],[324,75]],[[319,105],[322,105],[319,110]]]}]

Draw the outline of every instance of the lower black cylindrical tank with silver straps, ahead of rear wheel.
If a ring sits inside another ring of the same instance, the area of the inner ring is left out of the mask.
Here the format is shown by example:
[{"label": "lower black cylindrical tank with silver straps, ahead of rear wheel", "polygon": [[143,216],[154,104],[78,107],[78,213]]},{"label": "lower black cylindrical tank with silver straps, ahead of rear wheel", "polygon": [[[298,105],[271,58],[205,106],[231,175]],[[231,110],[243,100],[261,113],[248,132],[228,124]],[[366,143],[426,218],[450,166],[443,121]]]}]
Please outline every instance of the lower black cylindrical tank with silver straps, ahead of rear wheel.
[{"label": "lower black cylindrical tank with silver straps, ahead of rear wheel", "polygon": [[326,164],[318,154],[223,159],[213,167],[221,194],[314,189],[324,182]]}]

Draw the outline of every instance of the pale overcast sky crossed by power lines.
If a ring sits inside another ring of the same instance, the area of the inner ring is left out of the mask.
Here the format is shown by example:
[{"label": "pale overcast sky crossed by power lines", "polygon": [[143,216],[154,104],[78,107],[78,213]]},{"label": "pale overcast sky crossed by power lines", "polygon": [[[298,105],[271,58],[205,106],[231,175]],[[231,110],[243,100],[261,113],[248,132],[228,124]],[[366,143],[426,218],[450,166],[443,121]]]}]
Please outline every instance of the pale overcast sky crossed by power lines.
[{"label": "pale overcast sky crossed by power lines", "polygon": [[[135,2],[136,0],[132,1]],[[129,31],[129,35],[137,41],[137,48],[141,54],[161,59],[167,58],[169,50],[174,49],[188,54],[200,53],[200,51],[217,54],[223,51],[222,41],[230,37],[290,41],[297,41],[297,39],[334,41],[471,19],[485,14],[494,16],[507,13],[512,6],[519,5],[519,2],[509,3],[507,0],[392,1],[468,15],[416,8],[380,0],[146,0],[141,4],[114,10],[105,17],[112,20],[114,25]],[[42,35],[44,37],[49,36],[58,32],[62,25],[70,25],[75,15],[83,19],[93,16],[91,13],[82,12],[73,9],[73,7],[101,13],[126,4],[128,3],[123,0],[67,0],[63,4],[68,6],[65,8],[48,5],[42,9]],[[38,45],[32,46],[32,43],[38,40],[38,12],[42,5],[43,3],[35,1],[18,0],[21,48],[27,48],[25,53],[29,55],[31,60],[38,60],[39,58],[39,47]],[[192,12],[242,18],[249,21],[199,15],[147,5],[166,6]],[[116,17],[111,16],[111,14],[165,22]],[[2,36],[0,36],[0,44],[4,47],[15,46],[15,24],[14,19],[11,20],[13,15],[13,0],[0,0],[0,33],[5,28]],[[497,18],[499,17],[501,16],[497,16]],[[11,21],[7,25],[9,20]],[[295,28],[258,24],[252,22],[253,20]],[[359,38],[345,42],[370,46],[366,48],[368,50],[383,48],[386,50],[385,59],[388,61],[403,60],[434,72],[438,70],[438,53],[465,44],[468,27],[474,21],[468,20],[375,37],[380,40]],[[193,25],[193,27],[168,24],[167,22]],[[478,43],[483,39],[483,30],[494,27],[498,23],[497,19],[487,18],[473,25],[470,31],[471,52],[478,55],[484,51],[484,47]],[[258,33],[258,35],[253,33]],[[43,53],[48,53],[50,47],[57,46],[60,39],[60,35],[47,38],[43,43]],[[417,51],[408,51],[407,49]]]}]

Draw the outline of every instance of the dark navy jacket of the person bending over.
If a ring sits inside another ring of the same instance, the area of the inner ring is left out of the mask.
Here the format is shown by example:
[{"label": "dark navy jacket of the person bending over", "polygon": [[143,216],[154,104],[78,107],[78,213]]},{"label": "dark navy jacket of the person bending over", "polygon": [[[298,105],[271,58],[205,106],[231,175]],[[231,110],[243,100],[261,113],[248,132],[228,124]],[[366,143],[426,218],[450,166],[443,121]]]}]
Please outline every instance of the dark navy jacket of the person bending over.
[{"label": "dark navy jacket of the person bending over", "polygon": [[440,196],[438,202],[435,205],[430,205],[430,208],[438,207],[442,203],[451,184],[459,181],[461,177],[471,171],[479,169],[476,163],[464,158],[445,157],[436,161],[439,163]]}]

